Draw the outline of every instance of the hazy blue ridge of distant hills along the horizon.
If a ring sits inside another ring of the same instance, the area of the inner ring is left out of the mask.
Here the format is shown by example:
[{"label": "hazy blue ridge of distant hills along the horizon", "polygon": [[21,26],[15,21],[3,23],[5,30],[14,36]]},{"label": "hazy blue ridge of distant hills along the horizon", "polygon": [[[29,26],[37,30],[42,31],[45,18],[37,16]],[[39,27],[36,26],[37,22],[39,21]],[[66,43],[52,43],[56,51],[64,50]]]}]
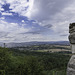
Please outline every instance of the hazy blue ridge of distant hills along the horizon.
[{"label": "hazy blue ridge of distant hills along the horizon", "polygon": [[31,45],[41,45],[41,44],[51,44],[51,45],[70,45],[69,41],[51,41],[51,42],[23,42],[23,43],[6,43],[6,47],[25,47]]}]

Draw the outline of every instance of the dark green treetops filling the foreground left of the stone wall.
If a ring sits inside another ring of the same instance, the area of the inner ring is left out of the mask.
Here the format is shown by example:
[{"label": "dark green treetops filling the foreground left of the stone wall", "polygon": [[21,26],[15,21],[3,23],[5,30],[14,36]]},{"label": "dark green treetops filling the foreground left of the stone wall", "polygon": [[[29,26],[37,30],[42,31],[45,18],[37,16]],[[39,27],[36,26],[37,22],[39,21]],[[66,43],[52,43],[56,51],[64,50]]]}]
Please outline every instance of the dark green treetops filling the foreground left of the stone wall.
[{"label": "dark green treetops filling the foreground left of the stone wall", "polygon": [[0,48],[0,75],[66,75],[70,55]]}]

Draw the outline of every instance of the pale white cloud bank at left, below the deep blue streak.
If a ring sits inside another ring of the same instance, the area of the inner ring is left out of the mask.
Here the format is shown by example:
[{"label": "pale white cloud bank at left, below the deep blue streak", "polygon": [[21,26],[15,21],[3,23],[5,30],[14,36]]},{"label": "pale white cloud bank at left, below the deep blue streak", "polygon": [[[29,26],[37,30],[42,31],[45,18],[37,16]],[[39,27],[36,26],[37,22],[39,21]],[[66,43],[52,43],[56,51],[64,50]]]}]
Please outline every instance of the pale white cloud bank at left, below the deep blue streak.
[{"label": "pale white cloud bank at left, below the deep blue streak", "polygon": [[8,23],[4,19],[0,19],[0,41],[10,42],[15,39],[22,41],[26,36],[24,33],[30,30],[30,28],[20,27],[18,23]]}]

